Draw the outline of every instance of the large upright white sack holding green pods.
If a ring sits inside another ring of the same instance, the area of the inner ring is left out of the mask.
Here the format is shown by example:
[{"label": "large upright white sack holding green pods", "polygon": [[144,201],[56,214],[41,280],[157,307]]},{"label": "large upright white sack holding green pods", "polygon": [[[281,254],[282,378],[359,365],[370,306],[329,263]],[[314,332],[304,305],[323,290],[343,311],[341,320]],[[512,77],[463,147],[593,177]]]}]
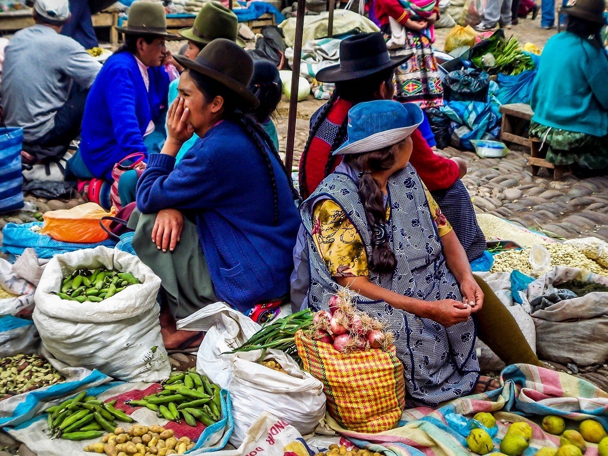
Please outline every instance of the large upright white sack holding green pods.
[{"label": "large upright white sack holding green pods", "polygon": [[[77,269],[131,272],[139,284],[98,303],[63,300],[52,294]],[[96,247],[57,255],[36,289],[33,320],[43,346],[71,366],[97,369],[124,381],[157,382],[171,366],[162,342],[158,278],[137,257]]]}]

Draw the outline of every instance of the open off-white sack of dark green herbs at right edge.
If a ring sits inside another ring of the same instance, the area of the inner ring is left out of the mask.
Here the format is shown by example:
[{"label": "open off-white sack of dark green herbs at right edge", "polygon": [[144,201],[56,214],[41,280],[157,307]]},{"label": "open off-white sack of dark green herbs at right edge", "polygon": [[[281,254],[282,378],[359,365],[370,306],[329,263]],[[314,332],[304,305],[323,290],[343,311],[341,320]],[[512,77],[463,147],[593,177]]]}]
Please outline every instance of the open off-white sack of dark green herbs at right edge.
[{"label": "open off-white sack of dark green herbs at right edge", "polygon": [[[570,280],[608,286],[608,277],[578,268],[556,266],[528,285],[528,300],[542,296],[549,285]],[[608,292],[593,292],[568,299],[532,314],[539,358],[581,367],[608,360]]]}]

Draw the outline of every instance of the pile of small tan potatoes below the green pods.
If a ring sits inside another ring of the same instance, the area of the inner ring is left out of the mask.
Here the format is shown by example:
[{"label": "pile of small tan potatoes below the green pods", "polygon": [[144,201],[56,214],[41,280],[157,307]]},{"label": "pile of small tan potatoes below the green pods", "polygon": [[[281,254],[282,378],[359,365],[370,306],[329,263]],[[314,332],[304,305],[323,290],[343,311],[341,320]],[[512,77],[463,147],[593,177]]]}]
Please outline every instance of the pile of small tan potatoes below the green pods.
[{"label": "pile of small tan potatoes below the green pods", "polygon": [[103,436],[102,441],[85,446],[85,451],[105,453],[108,456],[184,454],[193,449],[195,442],[188,437],[174,437],[173,429],[162,426],[117,427]]}]

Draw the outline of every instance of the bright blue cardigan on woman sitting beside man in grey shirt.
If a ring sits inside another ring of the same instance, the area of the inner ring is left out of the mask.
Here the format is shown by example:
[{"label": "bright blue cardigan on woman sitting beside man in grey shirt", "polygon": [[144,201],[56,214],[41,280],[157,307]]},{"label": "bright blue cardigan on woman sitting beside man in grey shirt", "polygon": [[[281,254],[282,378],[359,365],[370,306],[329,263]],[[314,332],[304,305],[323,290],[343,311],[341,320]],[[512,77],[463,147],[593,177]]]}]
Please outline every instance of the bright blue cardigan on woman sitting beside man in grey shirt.
[{"label": "bright blue cardigan on woman sitting beside man in grey shirt", "polygon": [[112,55],[86,98],[80,153],[97,178],[111,179],[114,165],[129,154],[147,153],[143,134],[167,103],[169,76],[164,67],[148,68],[149,90],[130,52]]}]

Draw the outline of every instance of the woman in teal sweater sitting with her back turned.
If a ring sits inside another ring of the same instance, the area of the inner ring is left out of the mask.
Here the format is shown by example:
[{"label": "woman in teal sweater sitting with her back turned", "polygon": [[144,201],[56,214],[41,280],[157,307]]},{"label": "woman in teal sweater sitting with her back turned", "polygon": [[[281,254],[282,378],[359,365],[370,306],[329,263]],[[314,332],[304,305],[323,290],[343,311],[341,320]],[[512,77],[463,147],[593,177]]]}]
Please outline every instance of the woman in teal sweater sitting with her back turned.
[{"label": "woman in teal sweater sitting with her back turned", "polygon": [[608,58],[599,40],[604,0],[564,8],[566,31],[542,51],[532,89],[530,136],[548,145],[547,161],[581,173],[608,168]]}]

